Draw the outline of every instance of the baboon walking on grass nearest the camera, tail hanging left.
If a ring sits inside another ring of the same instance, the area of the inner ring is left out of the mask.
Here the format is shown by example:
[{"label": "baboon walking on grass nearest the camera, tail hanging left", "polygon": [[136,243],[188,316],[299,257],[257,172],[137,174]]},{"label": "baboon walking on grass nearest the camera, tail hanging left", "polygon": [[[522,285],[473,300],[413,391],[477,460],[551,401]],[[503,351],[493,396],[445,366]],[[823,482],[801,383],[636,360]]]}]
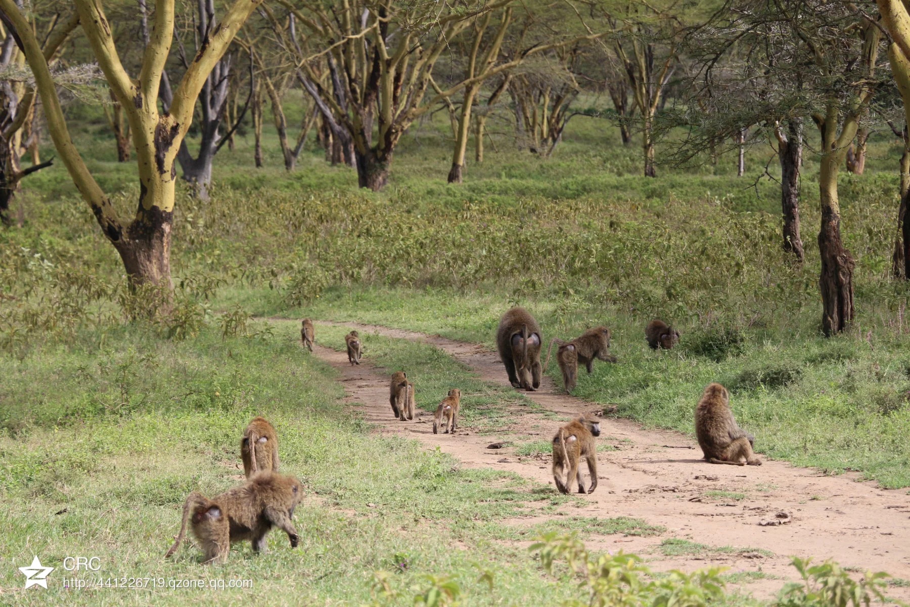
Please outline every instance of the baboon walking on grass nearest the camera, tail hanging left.
[{"label": "baboon walking on grass nearest the camera, tail hanging left", "polygon": [[244,484],[215,496],[212,500],[193,491],[183,505],[183,521],[177,541],[165,554],[174,554],[187,535],[187,521],[192,519],[193,535],[202,547],[206,561],[227,561],[230,544],[249,540],[253,551],[266,548],[266,534],[277,525],[288,533],[291,548],[297,548],[299,537],[291,518],[303,499],[303,485],[292,476],[259,472]]}]

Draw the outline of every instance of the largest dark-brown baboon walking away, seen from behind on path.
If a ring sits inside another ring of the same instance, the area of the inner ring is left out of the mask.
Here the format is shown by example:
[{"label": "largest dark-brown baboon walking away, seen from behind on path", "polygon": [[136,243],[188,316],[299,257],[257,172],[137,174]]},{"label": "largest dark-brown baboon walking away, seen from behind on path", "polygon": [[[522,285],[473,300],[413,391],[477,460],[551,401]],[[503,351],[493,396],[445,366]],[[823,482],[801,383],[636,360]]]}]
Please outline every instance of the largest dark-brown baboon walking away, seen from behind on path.
[{"label": "largest dark-brown baboon walking away, seen from behind on path", "polygon": [[541,328],[523,308],[502,315],[496,331],[496,349],[513,388],[533,391],[541,387]]}]

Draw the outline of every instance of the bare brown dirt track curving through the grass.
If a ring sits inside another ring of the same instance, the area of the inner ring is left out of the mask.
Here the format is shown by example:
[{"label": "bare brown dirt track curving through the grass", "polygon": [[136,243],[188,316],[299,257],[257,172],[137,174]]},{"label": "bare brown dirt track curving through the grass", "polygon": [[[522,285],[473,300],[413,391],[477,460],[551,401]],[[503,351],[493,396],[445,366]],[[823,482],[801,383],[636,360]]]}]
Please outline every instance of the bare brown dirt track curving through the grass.
[{"label": "bare brown dirt track curving through the grass", "polygon": [[[423,341],[460,359],[481,379],[508,385],[497,355],[477,344],[358,323],[321,324]],[[372,368],[369,359],[365,360],[367,364],[350,367],[341,352],[318,347],[316,354],[339,369],[349,400],[383,434],[415,438],[431,448],[439,446],[466,466],[511,470],[552,484],[549,458],[519,459],[511,450],[488,450],[486,446],[494,440],[547,440],[561,421],[531,415],[521,427],[532,430],[522,432],[520,437],[508,433],[478,436],[470,431],[453,436],[433,435],[432,418],[427,412],[420,411],[415,422],[410,423],[392,418],[388,373]],[[598,408],[563,393],[548,378],[543,380],[540,391],[526,396],[567,417]],[[860,571],[886,571],[910,580],[910,498],[906,490],[883,490],[874,482],[855,481],[849,475],[828,477],[818,470],[794,468],[766,458],[762,467],[714,466],[700,460],[701,451],[690,438],[670,431],[642,430],[629,420],[605,420],[599,445],[600,486],[585,498],[587,507],[573,508],[571,514],[637,517],[662,525],[667,531],[659,538],[608,536],[589,542],[598,549],[650,552],[650,564],[661,570],[693,570],[718,564],[729,567],[731,572],[770,574],[770,579],[745,586],[745,590],[760,598],[769,598],[779,589],[781,578],[794,578],[789,563],[792,555],[830,557]],[[605,445],[615,450],[608,450]],[[792,522],[759,525],[781,511],[788,513]],[[665,556],[655,547],[666,538],[760,551]],[[904,601],[910,599],[908,588],[893,587],[887,593]]]}]

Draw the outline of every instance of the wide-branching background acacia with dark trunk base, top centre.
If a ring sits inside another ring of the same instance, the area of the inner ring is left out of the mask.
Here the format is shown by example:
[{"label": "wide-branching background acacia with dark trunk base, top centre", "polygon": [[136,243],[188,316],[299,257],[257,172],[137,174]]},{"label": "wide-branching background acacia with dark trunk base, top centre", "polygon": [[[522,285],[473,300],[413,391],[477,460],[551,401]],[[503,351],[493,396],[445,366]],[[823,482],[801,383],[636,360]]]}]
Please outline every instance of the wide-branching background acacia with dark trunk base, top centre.
[{"label": "wide-branching background acacia with dark trunk base, top centre", "polygon": [[[442,53],[475,19],[515,0],[470,9],[433,0],[349,0],[330,7],[321,0],[279,2],[308,32],[288,45],[302,49],[297,61],[301,84],[333,137],[344,137],[352,147],[360,187],[373,190],[386,185],[399,139],[416,119],[465,87],[518,66],[527,56],[566,44],[532,43],[510,60],[478,66],[474,76],[430,96],[433,69]],[[331,86],[320,82],[322,62]]]}]

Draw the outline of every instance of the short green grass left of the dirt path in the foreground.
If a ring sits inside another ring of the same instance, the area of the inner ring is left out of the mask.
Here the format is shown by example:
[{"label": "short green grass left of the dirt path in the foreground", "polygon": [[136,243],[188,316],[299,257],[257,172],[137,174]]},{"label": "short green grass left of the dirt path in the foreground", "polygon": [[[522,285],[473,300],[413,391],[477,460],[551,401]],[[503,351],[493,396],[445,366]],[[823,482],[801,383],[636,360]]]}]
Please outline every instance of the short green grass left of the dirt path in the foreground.
[{"label": "short green grass left of the dirt path in the foreground", "polygon": [[[86,331],[69,346],[35,349],[15,364],[4,359],[8,375],[21,364],[33,377],[52,376],[57,390],[46,392],[52,382],[17,383],[23,402],[5,411],[7,420],[27,424],[7,424],[0,438],[0,553],[16,566],[38,554],[58,568],[47,592],[25,593],[16,604],[96,604],[102,592],[106,604],[147,604],[150,596],[157,604],[198,597],[220,604],[267,594],[275,604],[299,604],[301,596],[360,603],[369,601],[372,572],[394,570],[396,554],[408,555],[407,570],[394,579],[405,590],[423,583],[425,573],[445,571],[468,592],[466,604],[485,603],[489,591],[475,583],[480,567],[496,571],[498,592],[508,596],[568,596],[541,579],[530,555],[501,541],[518,531],[497,522],[536,511],[551,491],[508,473],[462,470],[411,440],[369,434],[340,404],[331,369],[302,353],[290,327],[268,340],[222,340],[204,330],[174,343],[133,326],[107,336],[110,352],[96,349],[100,337]],[[120,369],[132,350],[143,355],[125,375]],[[119,404],[121,395],[123,406],[102,406]],[[78,419],[68,400],[83,403]],[[53,415],[27,415],[42,404]],[[257,414],[278,430],[282,468],[307,487],[296,512],[301,547],[291,550],[273,532],[268,554],[237,545],[223,567],[199,564],[192,545],[165,561],[187,492],[212,495],[238,482],[239,436]],[[347,461],[357,463],[339,465]],[[501,531],[483,531],[486,524]],[[648,527],[632,521],[626,528]],[[611,532],[624,531],[617,530]],[[459,550],[452,550],[452,536]],[[105,576],[252,580],[254,590],[67,592],[60,566],[67,555],[99,557]],[[0,586],[18,588],[20,577],[4,567]]]}]

